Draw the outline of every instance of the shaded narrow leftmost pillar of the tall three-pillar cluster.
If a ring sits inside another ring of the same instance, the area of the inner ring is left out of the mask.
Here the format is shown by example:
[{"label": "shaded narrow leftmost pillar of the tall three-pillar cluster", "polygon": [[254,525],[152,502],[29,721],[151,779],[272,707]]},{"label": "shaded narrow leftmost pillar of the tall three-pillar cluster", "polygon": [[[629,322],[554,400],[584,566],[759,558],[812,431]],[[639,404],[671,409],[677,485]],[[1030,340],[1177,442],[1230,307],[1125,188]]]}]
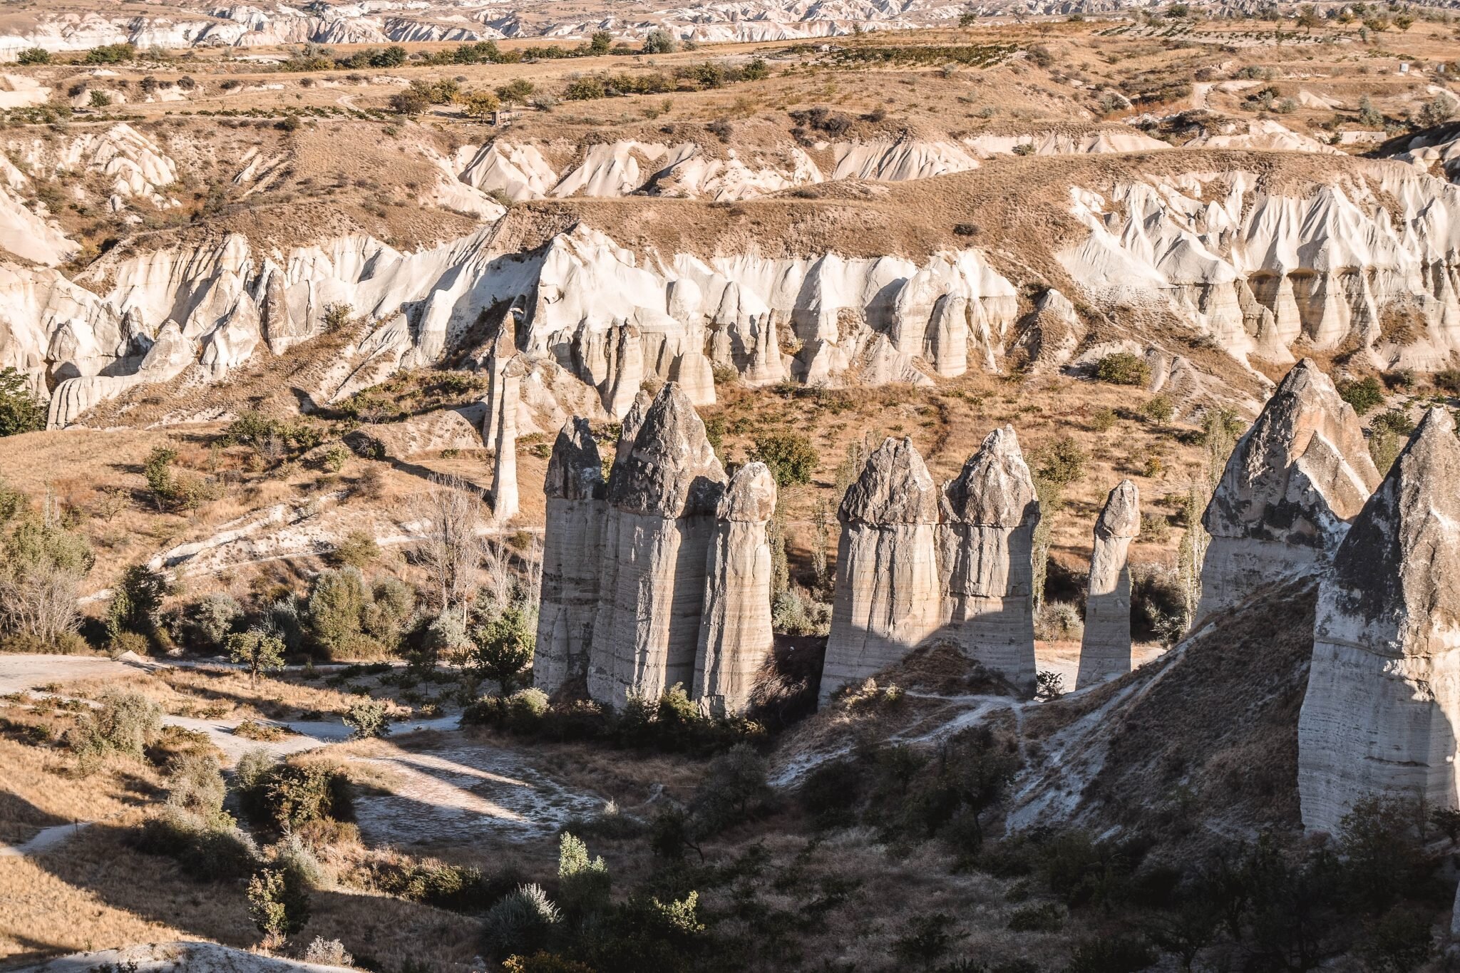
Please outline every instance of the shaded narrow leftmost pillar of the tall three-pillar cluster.
[{"label": "shaded narrow leftmost pillar of the tall three-pillar cluster", "polygon": [[545,693],[587,691],[588,646],[599,610],[607,484],[587,420],[558,433],[548,460],[542,602],[533,681]]}]

